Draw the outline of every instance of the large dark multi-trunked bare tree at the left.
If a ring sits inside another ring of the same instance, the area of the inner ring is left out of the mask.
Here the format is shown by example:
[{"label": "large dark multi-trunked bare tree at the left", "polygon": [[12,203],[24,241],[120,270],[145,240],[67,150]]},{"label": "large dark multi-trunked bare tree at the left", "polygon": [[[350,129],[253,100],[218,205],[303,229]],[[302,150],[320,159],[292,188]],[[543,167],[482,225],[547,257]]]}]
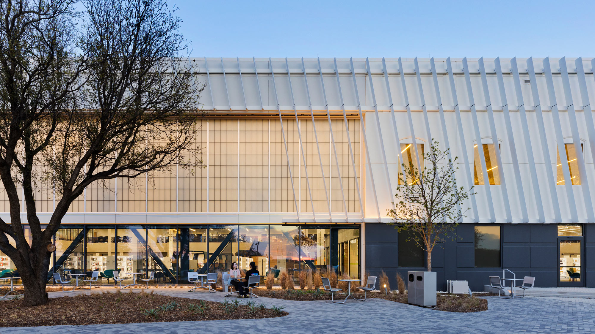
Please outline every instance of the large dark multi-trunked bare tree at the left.
[{"label": "large dark multi-trunked bare tree at the left", "polygon": [[[70,0],[0,0],[0,178],[11,219],[0,220],[0,250],[17,267],[27,305],[47,303],[52,236],[84,188],[202,165],[195,138],[204,86],[185,61],[176,8],[167,0],[82,4],[76,12]],[[45,228],[40,184],[57,197]]]}]

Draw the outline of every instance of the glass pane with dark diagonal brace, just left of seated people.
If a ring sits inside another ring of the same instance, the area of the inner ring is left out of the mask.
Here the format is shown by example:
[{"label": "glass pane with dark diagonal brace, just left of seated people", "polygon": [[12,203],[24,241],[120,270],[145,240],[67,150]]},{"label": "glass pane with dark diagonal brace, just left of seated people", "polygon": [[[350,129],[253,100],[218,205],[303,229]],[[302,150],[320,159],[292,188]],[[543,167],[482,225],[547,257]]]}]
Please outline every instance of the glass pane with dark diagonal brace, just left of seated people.
[{"label": "glass pane with dark diagonal brace, just left of seated people", "polygon": [[209,228],[209,272],[229,270],[237,262],[237,225]]}]

